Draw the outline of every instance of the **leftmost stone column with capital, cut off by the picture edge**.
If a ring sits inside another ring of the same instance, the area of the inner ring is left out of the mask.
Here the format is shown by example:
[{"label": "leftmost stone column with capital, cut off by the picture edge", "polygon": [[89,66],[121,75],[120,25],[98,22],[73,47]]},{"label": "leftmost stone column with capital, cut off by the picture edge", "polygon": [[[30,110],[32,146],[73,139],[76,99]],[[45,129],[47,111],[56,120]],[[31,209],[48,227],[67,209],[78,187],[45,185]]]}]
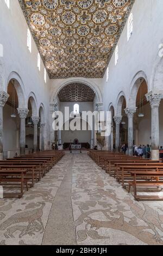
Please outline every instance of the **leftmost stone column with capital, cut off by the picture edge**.
[{"label": "leftmost stone column with capital, cut off by the picture edge", "polygon": [[9,94],[0,92],[0,160],[3,160],[3,107],[8,97]]}]

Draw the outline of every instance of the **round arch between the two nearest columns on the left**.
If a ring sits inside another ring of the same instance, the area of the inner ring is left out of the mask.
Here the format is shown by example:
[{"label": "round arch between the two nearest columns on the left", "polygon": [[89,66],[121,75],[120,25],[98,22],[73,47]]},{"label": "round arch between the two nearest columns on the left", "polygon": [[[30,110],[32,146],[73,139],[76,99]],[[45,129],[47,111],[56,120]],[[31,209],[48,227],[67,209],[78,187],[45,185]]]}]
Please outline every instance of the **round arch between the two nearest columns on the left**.
[{"label": "round arch between the two nearest columns on the left", "polygon": [[8,84],[10,81],[15,80],[15,90],[17,93],[17,97],[18,97],[18,108],[28,108],[27,106],[27,102],[25,100],[25,89],[24,89],[24,84],[22,82],[21,77],[16,73],[16,72],[11,72],[9,77],[8,77],[8,81],[6,84],[6,88],[5,91],[7,92],[8,89]]}]

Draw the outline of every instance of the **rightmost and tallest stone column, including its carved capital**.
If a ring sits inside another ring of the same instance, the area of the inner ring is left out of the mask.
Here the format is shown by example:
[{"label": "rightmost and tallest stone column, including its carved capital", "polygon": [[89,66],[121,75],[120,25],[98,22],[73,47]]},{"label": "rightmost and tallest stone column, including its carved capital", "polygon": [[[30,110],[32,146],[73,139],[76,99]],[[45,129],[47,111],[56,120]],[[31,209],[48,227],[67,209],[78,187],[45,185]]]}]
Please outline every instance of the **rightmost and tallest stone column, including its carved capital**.
[{"label": "rightmost and tallest stone column, including its carved capital", "polygon": [[159,160],[159,106],[162,93],[149,92],[146,94],[147,101],[151,104],[151,143],[152,160]]}]

